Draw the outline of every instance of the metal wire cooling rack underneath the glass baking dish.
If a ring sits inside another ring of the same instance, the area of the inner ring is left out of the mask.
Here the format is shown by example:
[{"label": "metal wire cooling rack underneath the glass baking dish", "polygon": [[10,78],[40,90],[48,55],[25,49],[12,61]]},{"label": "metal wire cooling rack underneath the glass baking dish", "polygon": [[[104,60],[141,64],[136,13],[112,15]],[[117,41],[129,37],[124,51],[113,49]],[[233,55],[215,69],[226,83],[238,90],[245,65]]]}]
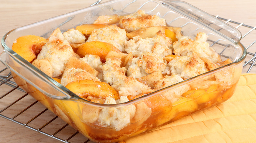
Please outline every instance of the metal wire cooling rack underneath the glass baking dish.
[{"label": "metal wire cooling rack underneath the glass baking dish", "polygon": [[[100,1],[101,0],[97,1],[93,5],[98,4]],[[244,23],[238,23],[231,19],[224,19],[219,16],[216,16],[216,18],[240,30],[243,35],[241,43],[243,43],[243,41],[251,43],[249,45],[244,45],[247,49],[247,57],[243,73],[256,73],[256,52],[253,50],[256,48],[251,48],[256,46],[254,44],[256,39],[248,42],[248,37],[255,37],[256,27],[252,27]],[[25,128],[29,128],[35,132],[54,138],[60,142],[92,142],[59,119],[41,103],[38,103],[31,96],[28,96],[28,93],[19,88],[19,86],[17,86],[13,81],[10,70],[7,68],[0,69],[0,91],[3,91],[3,88],[5,88],[4,91],[8,92],[0,92],[0,117],[24,126]]]}]

